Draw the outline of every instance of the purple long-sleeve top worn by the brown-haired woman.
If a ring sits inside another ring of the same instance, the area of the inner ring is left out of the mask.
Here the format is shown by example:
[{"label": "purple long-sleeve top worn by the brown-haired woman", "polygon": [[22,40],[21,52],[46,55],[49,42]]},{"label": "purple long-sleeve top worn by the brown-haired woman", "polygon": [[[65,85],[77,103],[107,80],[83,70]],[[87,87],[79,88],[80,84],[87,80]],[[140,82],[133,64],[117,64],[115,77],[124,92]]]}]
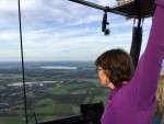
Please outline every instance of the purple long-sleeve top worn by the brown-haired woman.
[{"label": "purple long-sleeve top worn by the brown-haired woman", "polygon": [[156,10],[147,48],[132,79],[110,92],[102,124],[150,124],[155,109],[157,78],[164,59],[164,0],[156,0]]}]

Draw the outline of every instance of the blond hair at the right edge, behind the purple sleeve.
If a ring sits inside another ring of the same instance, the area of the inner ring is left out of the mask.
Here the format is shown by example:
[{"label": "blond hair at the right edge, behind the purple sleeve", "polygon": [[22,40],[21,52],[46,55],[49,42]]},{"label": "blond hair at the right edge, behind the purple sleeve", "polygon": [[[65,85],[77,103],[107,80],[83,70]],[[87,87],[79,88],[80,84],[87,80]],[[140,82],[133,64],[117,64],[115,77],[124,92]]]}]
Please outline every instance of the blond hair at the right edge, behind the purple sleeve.
[{"label": "blond hair at the right edge, behind the purple sleeve", "polygon": [[164,114],[164,75],[159,77],[155,113]]}]

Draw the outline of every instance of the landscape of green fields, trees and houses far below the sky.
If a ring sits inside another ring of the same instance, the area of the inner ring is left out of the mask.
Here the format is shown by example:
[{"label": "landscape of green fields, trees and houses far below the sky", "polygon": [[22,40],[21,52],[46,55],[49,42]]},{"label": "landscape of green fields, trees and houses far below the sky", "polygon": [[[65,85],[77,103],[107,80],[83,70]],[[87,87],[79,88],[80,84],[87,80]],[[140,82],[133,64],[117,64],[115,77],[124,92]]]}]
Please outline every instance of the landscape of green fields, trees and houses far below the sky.
[{"label": "landscape of green fields, trees and houses far below the sky", "polygon": [[[79,115],[81,103],[103,101],[105,104],[108,90],[102,87],[94,67],[89,68],[43,70],[30,66],[25,70],[25,81],[35,83],[26,84],[28,122],[35,123],[34,112],[38,122],[45,122]],[[8,86],[22,82],[20,67],[0,67],[0,101],[4,106],[1,106],[1,112],[7,110],[4,115],[0,115],[0,124],[25,124],[20,117],[24,114],[23,87]],[[42,81],[54,82],[40,84]],[[11,113],[8,113],[8,109],[12,110]]]}]

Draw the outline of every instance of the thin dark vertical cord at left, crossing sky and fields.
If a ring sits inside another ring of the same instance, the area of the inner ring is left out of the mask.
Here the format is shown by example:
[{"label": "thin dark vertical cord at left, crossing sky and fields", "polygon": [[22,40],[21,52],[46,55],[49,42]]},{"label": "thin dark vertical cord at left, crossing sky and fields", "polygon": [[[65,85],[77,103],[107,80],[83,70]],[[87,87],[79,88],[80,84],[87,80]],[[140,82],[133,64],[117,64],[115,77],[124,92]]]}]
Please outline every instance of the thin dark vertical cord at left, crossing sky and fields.
[{"label": "thin dark vertical cord at left, crossing sky and fields", "polygon": [[25,90],[25,78],[24,78],[24,59],[23,59],[23,43],[22,43],[22,25],[21,25],[21,7],[20,7],[20,0],[17,0],[17,3],[19,3],[19,24],[20,24],[22,75],[23,75],[23,77],[22,77],[23,78],[23,94],[24,94],[25,120],[26,120],[26,124],[27,124],[28,120],[27,120],[26,90]]}]

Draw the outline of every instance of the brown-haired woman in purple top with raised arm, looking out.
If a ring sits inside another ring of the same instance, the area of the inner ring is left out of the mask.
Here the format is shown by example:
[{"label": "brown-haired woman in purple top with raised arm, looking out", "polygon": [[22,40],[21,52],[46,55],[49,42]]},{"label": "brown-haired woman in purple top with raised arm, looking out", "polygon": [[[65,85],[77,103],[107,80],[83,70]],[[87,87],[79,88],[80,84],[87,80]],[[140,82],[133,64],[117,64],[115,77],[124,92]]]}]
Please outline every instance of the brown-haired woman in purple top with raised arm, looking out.
[{"label": "brown-haired woman in purple top with raised arm, looking out", "polygon": [[102,124],[151,123],[164,58],[164,0],[155,3],[149,42],[134,74],[128,54],[121,49],[107,50],[95,61],[102,84],[112,89]]}]

